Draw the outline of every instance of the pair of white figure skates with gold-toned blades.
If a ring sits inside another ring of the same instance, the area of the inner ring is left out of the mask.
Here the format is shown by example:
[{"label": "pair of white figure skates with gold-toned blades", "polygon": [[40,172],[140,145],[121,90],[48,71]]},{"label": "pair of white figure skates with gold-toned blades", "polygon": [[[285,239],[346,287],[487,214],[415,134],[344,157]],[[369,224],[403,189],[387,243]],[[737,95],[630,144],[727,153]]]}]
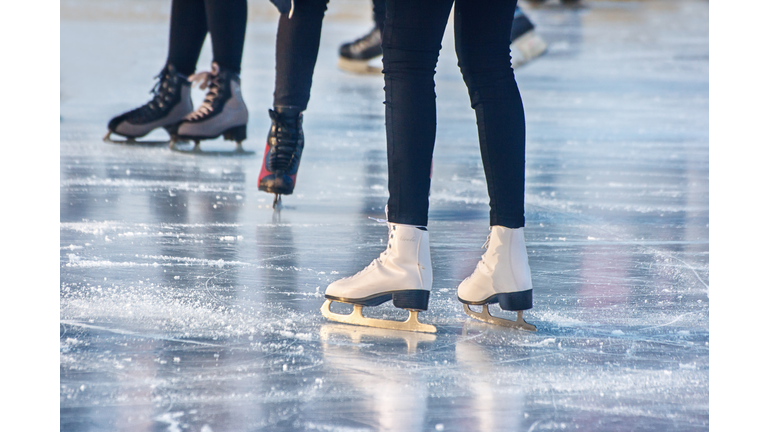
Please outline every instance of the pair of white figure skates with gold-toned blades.
[{"label": "pair of white figure skates with gold-toned blades", "polygon": [[[420,311],[427,310],[432,288],[432,261],[429,232],[424,227],[388,222],[387,249],[368,267],[354,276],[328,286],[322,314],[329,320],[393,330],[434,333],[433,325],[419,322]],[[523,319],[523,310],[531,309],[533,284],[525,250],[523,228],[491,227],[484,245],[487,250],[471,276],[458,289],[464,312],[472,318],[504,327],[536,331]],[[363,316],[364,306],[378,306],[392,300],[395,307],[406,309],[406,321],[390,321]],[[332,302],[350,303],[351,314],[332,312]],[[498,303],[502,310],[517,311],[517,319],[494,317],[488,305]],[[481,305],[475,312],[470,305]]]}]

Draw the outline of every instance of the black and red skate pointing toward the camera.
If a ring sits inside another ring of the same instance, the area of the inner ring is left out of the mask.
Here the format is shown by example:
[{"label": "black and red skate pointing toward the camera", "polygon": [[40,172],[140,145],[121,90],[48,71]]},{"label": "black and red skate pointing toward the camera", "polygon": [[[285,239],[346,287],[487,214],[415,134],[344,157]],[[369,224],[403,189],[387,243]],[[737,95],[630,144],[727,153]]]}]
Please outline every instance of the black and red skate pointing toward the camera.
[{"label": "black and red skate pointing toward the camera", "polygon": [[269,110],[269,117],[272,127],[259,173],[259,190],[275,194],[272,207],[277,208],[280,196],[292,194],[296,186],[296,174],[304,150],[303,115],[298,107],[275,107]]}]

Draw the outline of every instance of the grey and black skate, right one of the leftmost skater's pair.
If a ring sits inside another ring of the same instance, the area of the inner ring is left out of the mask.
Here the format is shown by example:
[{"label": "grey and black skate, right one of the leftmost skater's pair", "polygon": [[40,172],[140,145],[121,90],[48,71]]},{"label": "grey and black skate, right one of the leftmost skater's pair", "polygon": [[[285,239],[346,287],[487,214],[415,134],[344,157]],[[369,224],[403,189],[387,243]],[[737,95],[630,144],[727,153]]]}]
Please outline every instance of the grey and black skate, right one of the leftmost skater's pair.
[{"label": "grey and black skate, right one of the leftmost skater's pair", "polygon": [[[189,153],[212,155],[253,154],[243,150],[242,142],[246,138],[248,109],[245,107],[240,92],[240,77],[229,70],[220,69],[214,62],[211,72],[203,72],[190,77],[193,82],[202,81],[201,89],[208,88],[202,105],[184,118],[179,124],[176,136],[180,140],[195,142],[192,150],[184,150],[172,143],[173,150]],[[203,152],[200,141],[215,139],[224,135],[225,140],[237,142],[234,152]]]}]

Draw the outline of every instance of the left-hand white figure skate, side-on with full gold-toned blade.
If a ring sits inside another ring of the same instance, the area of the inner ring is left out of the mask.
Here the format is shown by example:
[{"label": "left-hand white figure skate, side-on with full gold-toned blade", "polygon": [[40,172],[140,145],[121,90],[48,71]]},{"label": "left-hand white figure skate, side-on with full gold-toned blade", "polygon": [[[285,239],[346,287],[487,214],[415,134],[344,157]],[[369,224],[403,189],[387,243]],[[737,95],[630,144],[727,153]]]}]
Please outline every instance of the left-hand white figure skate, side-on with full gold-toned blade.
[{"label": "left-hand white figure skate, side-on with full gold-toned blade", "polygon": [[[325,290],[321,311],[332,321],[435,333],[435,326],[419,322],[419,311],[427,310],[432,288],[432,261],[429,255],[429,233],[426,228],[388,222],[387,249],[365,269],[354,276],[337,280]],[[392,300],[395,307],[407,309],[406,321],[366,318],[363,306],[378,306]],[[331,302],[350,303],[349,315],[331,312]]]}]

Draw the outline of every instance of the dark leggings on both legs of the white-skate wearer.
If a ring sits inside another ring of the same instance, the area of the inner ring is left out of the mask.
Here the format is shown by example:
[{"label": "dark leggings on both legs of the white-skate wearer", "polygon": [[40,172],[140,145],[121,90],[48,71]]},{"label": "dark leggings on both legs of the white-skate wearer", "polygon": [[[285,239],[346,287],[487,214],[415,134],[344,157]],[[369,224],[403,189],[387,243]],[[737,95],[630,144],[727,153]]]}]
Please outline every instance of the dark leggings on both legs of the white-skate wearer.
[{"label": "dark leggings on both legs of the white-skate wearer", "polygon": [[[387,0],[382,34],[389,221],[427,225],[435,67],[453,0]],[[516,1],[456,0],[456,54],[477,118],[491,225],[525,225],[525,116],[510,66]]]}]

